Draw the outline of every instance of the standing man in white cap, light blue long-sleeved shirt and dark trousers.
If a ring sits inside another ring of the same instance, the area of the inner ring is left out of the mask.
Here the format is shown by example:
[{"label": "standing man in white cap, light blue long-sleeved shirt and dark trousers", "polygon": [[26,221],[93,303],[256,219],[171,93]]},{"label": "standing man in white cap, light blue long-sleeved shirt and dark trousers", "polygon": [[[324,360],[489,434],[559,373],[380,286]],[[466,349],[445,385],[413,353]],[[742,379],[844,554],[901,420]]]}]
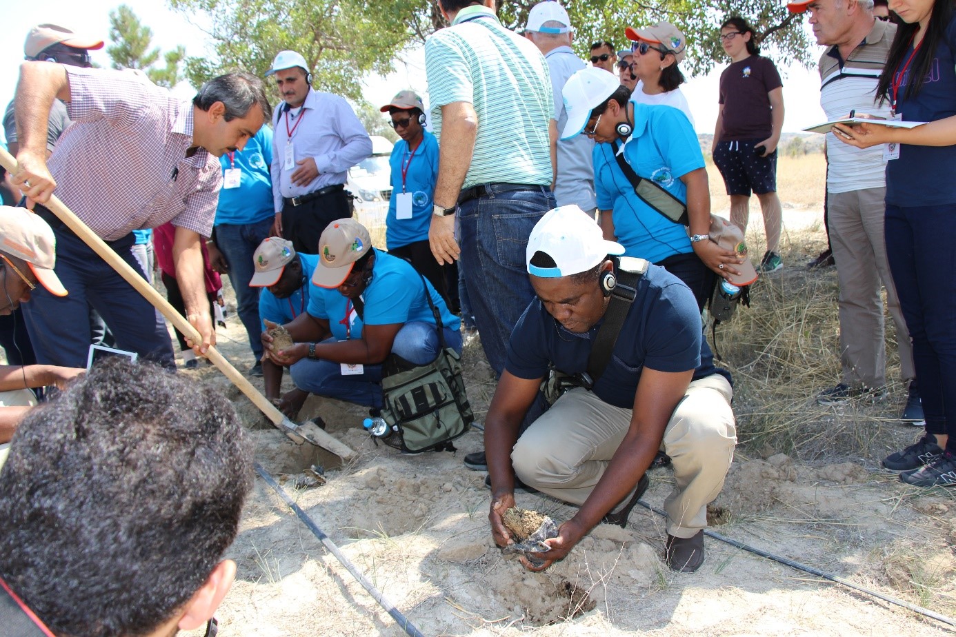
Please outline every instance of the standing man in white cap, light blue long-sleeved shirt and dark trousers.
[{"label": "standing man in white cap, light blue long-sleeved shirt and dark trousers", "polygon": [[296,252],[315,254],[325,226],[352,216],[344,183],[372,155],[372,140],[344,98],[313,90],[301,54],[279,52],[266,74],[285,99],[272,118],[275,231]]}]

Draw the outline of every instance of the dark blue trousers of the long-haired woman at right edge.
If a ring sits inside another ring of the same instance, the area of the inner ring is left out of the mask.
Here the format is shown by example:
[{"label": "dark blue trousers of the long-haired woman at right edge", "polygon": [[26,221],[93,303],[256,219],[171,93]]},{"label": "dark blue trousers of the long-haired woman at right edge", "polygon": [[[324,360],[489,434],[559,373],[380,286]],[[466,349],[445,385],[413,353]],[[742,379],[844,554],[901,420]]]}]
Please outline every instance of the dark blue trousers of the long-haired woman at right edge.
[{"label": "dark blue trousers of the long-haired woman at right edge", "polygon": [[956,453],[956,204],[886,205],[886,256],[900,296],[926,431]]}]

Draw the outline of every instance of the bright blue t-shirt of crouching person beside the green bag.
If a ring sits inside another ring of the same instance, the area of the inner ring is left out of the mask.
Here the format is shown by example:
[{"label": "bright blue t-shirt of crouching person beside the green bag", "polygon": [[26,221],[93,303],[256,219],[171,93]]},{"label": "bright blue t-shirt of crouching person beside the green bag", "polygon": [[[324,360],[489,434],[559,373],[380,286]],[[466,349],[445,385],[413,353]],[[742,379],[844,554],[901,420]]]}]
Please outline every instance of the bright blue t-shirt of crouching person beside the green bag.
[{"label": "bright blue t-shirt of crouching person beside the green bag", "polygon": [[461,324],[461,319],[448,311],[445,301],[427,279],[423,286],[422,277],[415,268],[405,260],[381,250],[375,250],[372,281],[361,295],[365,304],[363,319],[356,314],[352,300],[342,296],[337,288],[329,289],[315,284],[310,284],[310,287],[309,313],[315,318],[328,320],[332,335],[338,340],[360,338],[363,323],[394,325],[424,321],[435,325],[435,317],[424,297],[425,287],[431,295],[431,302],[439,310],[445,328],[457,330]]}]

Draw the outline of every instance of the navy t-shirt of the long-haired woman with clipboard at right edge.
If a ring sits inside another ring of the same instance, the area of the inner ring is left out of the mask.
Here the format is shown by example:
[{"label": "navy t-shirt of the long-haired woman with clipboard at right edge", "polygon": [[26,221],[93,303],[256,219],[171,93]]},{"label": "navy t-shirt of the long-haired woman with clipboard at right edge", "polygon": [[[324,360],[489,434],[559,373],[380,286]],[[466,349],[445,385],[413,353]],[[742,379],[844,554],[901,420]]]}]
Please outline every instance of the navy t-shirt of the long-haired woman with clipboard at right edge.
[{"label": "navy t-shirt of the long-haired woman with clipboard at right edge", "polygon": [[[910,46],[903,60],[913,53]],[[897,97],[897,113],[904,121],[935,121],[956,115],[956,17],[946,27],[945,37],[936,47],[929,74],[915,96],[907,97],[906,86],[912,67],[903,74]],[[901,64],[902,66],[902,64]],[[894,71],[894,78],[899,70]],[[892,93],[890,95],[892,97]],[[892,205],[920,206],[956,203],[956,145],[900,145],[900,159],[886,162],[886,202]]]}]

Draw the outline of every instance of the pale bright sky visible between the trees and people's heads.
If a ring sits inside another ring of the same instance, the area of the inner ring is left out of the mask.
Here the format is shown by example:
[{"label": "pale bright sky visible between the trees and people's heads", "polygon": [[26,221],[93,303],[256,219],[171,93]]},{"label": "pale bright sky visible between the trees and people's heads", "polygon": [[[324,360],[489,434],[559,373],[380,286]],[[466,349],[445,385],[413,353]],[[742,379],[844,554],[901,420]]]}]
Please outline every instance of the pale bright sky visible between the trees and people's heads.
[{"label": "pale bright sky visible between the trees and people's heads", "polygon": [[[18,63],[23,59],[23,40],[30,28],[39,23],[50,22],[74,32],[107,39],[109,35],[109,11],[118,7],[117,0],[43,0],[42,2],[18,3],[15,11],[5,11],[7,36],[0,39],[0,107],[6,107],[16,87]],[[185,45],[188,55],[204,55],[206,34],[181,14],[170,10],[163,2],[155,0],[128,0],[128,4],[141,21],[153,30],[153,44],[163,51]],[[107,45],[109,43],[107,42]],[[818,52],[815,52],[815,54]],[[109,66],[105,51],[93,53],[102,66]],[[424,94],[424,55],[421,49],[411,51],[398,63],[397,71],[388,77],[369,76],[364,81],[364,96],[373,104],[386,103],[400,90],[410,88]],[[684,85],[684,94],[690,103],[699,133],[712,133],[717,117],[717,88],[722,64],[714,72],[692,78]],[[784,132],[795,132],[815,123],[825,121],[819,107],[819,79],[815,70],[801,67],[781,69],[784,77]],[[191,96],[193,90],[181,85],[177,92]]]}]

